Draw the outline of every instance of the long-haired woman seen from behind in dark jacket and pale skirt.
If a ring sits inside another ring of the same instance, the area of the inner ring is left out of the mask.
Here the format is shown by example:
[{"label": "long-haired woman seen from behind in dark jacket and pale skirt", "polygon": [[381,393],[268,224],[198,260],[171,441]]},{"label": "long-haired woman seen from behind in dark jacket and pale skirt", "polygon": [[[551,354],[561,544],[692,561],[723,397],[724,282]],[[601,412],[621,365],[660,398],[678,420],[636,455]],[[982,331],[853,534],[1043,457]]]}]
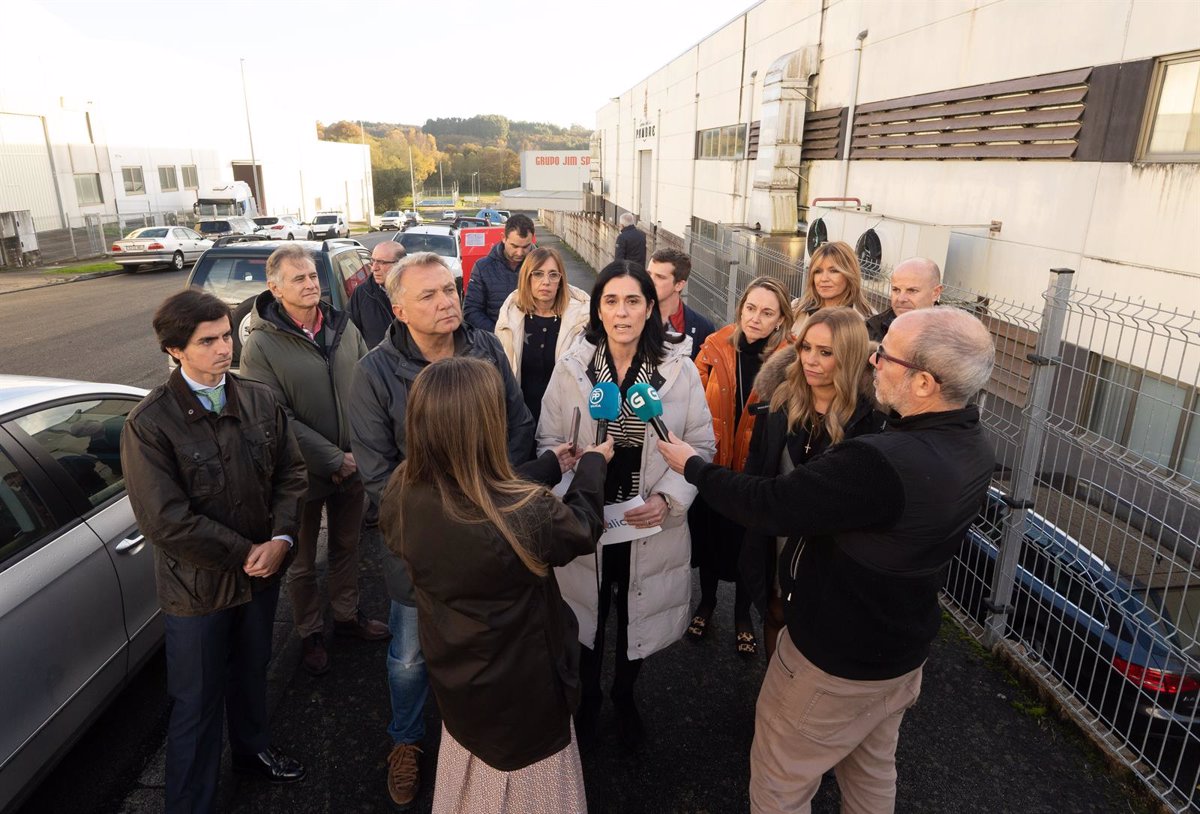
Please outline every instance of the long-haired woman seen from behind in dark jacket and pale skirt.
[{"label": "long-haired woman seen from behind in dark jacket and pale skirt", "polygon": [[430,365],[408,396],[408,456],[383,495],[380,527],[413,579],[443,720],[433,812],[584,812],[578,628],[552,568],[595,551],[612,443],[578,457],[559,501],[512,469],[505,421],[493,366]]}]

